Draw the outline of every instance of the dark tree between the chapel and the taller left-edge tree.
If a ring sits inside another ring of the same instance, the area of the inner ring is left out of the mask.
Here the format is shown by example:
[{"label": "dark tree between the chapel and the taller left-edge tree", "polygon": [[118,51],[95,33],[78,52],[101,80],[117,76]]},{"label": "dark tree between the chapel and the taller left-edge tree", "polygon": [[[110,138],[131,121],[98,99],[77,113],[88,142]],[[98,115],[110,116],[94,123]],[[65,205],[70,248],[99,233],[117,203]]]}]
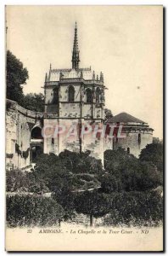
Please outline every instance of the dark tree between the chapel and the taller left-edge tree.
[{"label": "dark tree between the chapel and the taller left-edge tree", "polygon": [[32,111],[43,112],[44,111],[43,94],[29,93],[25,95],[24,102],[22,102],[22,106]]}]

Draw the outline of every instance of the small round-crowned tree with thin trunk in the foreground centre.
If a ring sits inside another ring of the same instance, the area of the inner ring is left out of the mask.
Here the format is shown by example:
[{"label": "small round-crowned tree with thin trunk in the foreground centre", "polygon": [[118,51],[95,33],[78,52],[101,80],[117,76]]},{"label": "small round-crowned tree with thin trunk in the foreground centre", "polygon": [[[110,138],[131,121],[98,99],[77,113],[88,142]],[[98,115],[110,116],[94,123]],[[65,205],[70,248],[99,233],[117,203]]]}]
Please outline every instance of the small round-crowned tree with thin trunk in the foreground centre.
[{"label": "small round-crowned tree with thin trunk in the foreground centre", "polygon": [[76,196],[76,212],[86,214],[90,217],[90,226],[92,226],[93,217],[102,217],[109,212],[110,204],[104,194],[98,191],[86,191]]}]

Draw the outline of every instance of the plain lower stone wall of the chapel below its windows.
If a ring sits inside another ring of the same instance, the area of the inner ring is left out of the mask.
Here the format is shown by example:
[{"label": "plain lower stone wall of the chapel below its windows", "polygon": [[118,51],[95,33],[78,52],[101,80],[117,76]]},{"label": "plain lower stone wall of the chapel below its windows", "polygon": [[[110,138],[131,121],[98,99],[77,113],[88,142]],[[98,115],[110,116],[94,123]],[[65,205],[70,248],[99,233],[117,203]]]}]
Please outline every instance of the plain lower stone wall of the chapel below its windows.
[{"label": "plain lower stone wall of the chapel below its windows", "polygon": [[[104,137],[94,137],[93,131],[89,134],[84,134],[83,137],[79,137],[79,119],[44,119],[44,127],[48,127],[48,125],[53,126],[53,128],[57,127],[57,125],[63,125],[65,130],[59,136],[57,132],[53,136],[54,131],[49,131],[48,137],[44,138],[44,153],[59,154],[64,149],[77,153],[80,152],[80,149],[83,152],[90,150],[92,156],[101,159],[102,163],[104,163]],[[91,124],[91,121],[81,119],[81,125],[91,125],[90,127],[94,129],[95,125],[101,125],[101,123],[96,121]]]}]

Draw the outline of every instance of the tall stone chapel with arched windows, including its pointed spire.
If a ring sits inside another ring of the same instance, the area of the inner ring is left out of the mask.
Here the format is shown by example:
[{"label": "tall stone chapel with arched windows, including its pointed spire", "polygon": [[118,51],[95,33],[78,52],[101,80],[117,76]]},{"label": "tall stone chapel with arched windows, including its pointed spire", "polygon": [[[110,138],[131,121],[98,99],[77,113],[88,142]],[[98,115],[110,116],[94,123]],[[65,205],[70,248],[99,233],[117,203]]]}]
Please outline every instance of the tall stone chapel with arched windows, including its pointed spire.
[{"label": "tall stone chapel with arched windows, including its pointed spire", "polygon": [[95,75],[91,67],[79,67],[77,26],[71,61],[71,68],[50,65],[46,73],[44,153],[90,150],[92,156],[104,160],[104,138],[98,133],[104,123],[104,75]]}]

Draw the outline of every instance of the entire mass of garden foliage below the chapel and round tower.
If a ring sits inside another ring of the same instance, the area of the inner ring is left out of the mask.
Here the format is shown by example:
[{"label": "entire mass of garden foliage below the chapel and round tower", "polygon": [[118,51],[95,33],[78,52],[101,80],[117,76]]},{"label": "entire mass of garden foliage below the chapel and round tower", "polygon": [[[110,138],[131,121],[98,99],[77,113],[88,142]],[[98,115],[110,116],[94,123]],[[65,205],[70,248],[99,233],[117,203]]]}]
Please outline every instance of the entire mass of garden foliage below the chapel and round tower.
[{"label": "entire mass of garden foliage below the chapel and round tower", "polygon": [[[91,225],[93,217],[104,216],[104,224],[109,225],[152,225],[161,222],[162,198],[156,191],[161,184],[160,172],[151,161],[139,160],[121,148],[107,150],[104,154],[104,172],[101,162],[89,154],[89,151],[78,154],[68,150],[59,156],[41,154],[31,172],[7,172],[7,191],[38,194],[52,191],[53,201],[64,209],[61,217],[64,221],[74,218],[77,212],[89,216]],[[100,182],[101,189],[98,189]],[[11,212],[16,211],[13,207],[8,214],[8,224],[35,224],[36,221],[37,224],[45,224],[41,217],[30,217],[34,215],[24,200],[20,204],[24,209],[26,206],[25,215],[29,217],[19,219],[14,213],[13,218]],[[26,200],[31,201],[29,197]],[[13,206],[18,201],[20,199],[10,203]],[[34,201],[30,203],[35,205]],[[41,207],[39,205],[39,212],[42,211]],[[22,208],[20,211],[23,212]],[[38,212],[37,216],[40,216]]]}]

